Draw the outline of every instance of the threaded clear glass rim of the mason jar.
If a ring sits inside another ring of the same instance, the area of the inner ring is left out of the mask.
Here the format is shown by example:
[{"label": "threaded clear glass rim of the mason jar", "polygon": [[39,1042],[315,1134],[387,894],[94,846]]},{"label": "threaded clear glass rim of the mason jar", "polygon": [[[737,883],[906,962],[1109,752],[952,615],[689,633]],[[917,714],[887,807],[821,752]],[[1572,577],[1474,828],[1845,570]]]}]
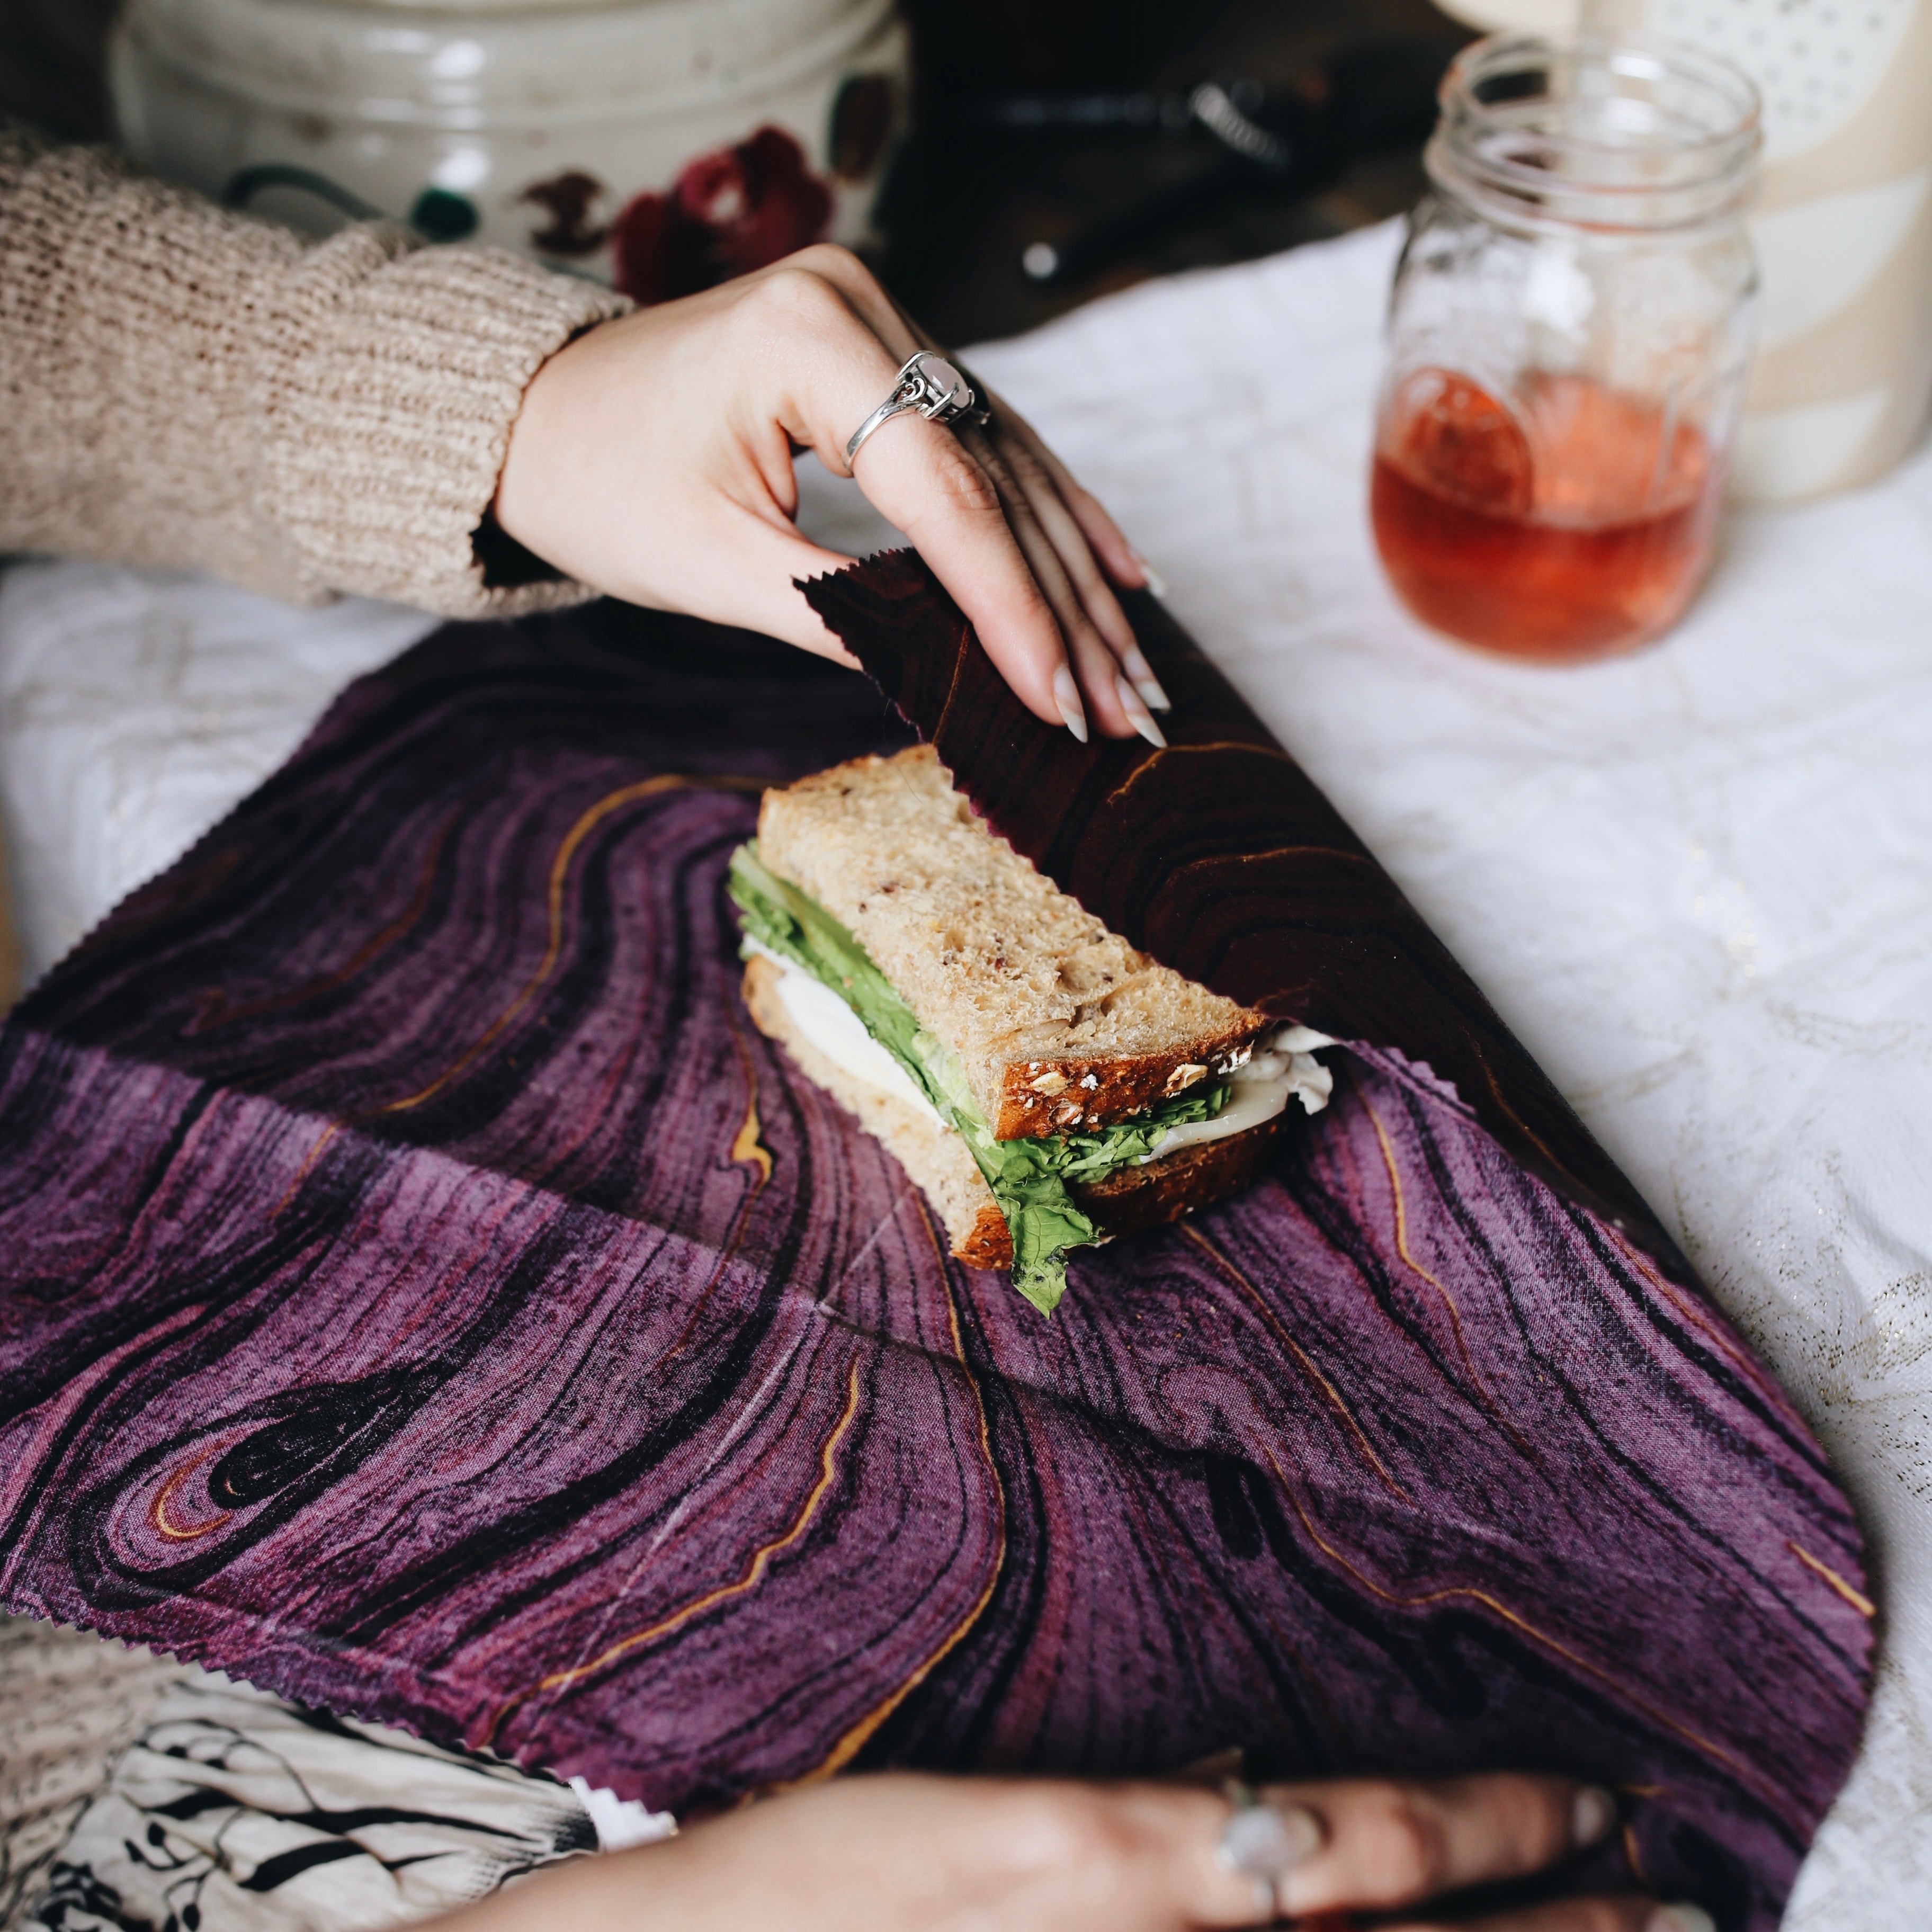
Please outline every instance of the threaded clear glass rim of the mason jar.
[{"label": "threaded clear glass rim of the mason jar", "polygon": [[1490,35],[1449,64],[1437,100],[1428,170],[1488,214],[1681,228],[1735,214],[1756,185],[1758,89],[1663,37]]}]

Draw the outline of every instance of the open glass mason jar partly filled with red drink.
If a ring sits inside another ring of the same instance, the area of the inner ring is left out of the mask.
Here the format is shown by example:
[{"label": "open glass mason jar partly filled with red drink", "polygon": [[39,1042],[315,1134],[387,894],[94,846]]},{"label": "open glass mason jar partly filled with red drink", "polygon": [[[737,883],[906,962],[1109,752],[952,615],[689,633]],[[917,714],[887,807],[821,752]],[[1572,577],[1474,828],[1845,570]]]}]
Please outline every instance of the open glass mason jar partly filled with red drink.
[{"label": "open glass mason jar partly filled with red drink", "polygon": [[1750,359],[1758,95],[1667,43],[1478,41],[1389,303],[1370,506],[1435,630],[1627,651],[1710,566]]}]

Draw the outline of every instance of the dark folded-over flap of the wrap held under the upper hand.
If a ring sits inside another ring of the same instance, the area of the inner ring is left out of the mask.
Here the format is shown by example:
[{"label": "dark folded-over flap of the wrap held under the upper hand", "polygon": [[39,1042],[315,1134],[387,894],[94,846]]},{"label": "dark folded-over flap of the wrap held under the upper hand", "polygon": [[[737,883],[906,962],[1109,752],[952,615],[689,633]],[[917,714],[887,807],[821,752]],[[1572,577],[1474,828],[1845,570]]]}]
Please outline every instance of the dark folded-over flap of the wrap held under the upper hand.
[{"label": "dark folded-over flap of the wrap held under the upper hand", "polygon": [[1173,699],[1167,750],[1034,717],[914,551],[798,582],[985,821],[1142,952],[1331,1034],[1472,1115],[1524,1169],[1696,1273],[1476,981],[1233,684],[1148,591],[1121,593]]}]

